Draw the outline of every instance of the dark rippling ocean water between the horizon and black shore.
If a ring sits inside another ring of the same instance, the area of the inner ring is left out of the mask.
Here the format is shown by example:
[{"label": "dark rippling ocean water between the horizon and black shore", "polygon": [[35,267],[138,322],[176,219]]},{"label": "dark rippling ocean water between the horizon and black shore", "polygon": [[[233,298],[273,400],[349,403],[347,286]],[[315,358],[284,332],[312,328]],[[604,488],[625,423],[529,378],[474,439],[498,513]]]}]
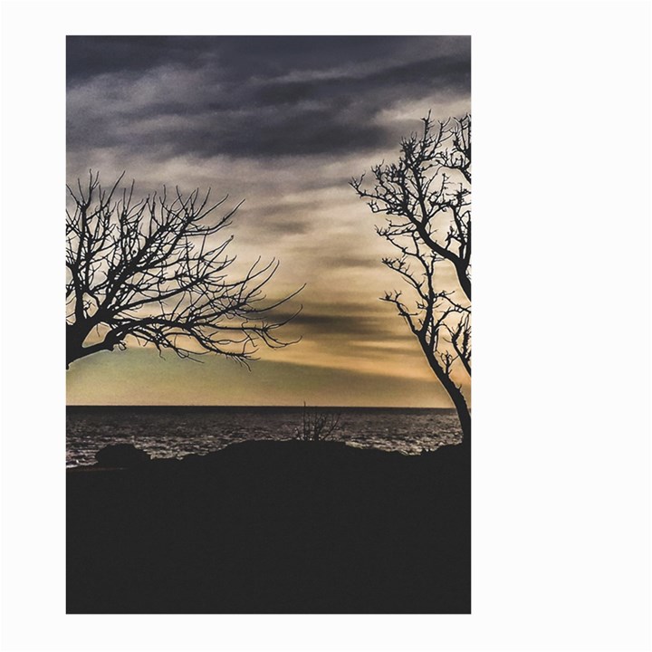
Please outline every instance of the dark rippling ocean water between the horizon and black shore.
[{"label": "dark rippling ocean water between the horizon and black shore", "polygon": [[[418,455],[455,444],[461,431],[452,409],[309,408],[340,415],[330,439]],[[152,457],[203,455],[248,439],[292,439],[303,408],[68,407],[66,464],[90,465],[108,444],[133,444]]]}]

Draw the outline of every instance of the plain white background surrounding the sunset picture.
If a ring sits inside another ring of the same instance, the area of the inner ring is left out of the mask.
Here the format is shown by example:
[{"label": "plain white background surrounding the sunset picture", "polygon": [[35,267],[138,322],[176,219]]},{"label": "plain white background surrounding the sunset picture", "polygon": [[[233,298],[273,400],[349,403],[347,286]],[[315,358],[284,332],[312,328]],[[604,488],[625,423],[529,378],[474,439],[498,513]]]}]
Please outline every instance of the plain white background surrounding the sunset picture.
[{"label": "plain white background surrounding the sunset picture", "polygon": [[[7,2],[2,29],[3,649],[650,648],[648,3]],[[473,615],[65,615],[65,34],[472,34]]]}]

